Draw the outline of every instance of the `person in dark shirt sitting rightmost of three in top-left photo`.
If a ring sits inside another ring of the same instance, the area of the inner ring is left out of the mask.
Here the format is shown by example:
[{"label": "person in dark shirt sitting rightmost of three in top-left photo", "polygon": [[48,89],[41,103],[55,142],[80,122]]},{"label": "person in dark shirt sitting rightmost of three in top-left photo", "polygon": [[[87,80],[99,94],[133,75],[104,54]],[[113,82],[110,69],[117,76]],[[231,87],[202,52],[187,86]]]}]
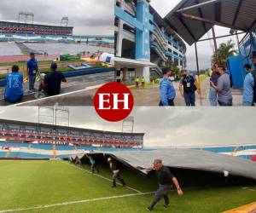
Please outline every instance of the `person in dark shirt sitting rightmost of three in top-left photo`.
[{"label": "person in dark shirt sitting rightmost of three in top-left photo", "polygon": [[44,76],[44,81],[39,86],[39,91],[44,89],[44,92],[51,95],[59,95],[61,91],[61,82],[67,82],[66,78],[62,72],[57,72],[57,64],[52,62],[50,65],[50,70],[48,74]]}]

